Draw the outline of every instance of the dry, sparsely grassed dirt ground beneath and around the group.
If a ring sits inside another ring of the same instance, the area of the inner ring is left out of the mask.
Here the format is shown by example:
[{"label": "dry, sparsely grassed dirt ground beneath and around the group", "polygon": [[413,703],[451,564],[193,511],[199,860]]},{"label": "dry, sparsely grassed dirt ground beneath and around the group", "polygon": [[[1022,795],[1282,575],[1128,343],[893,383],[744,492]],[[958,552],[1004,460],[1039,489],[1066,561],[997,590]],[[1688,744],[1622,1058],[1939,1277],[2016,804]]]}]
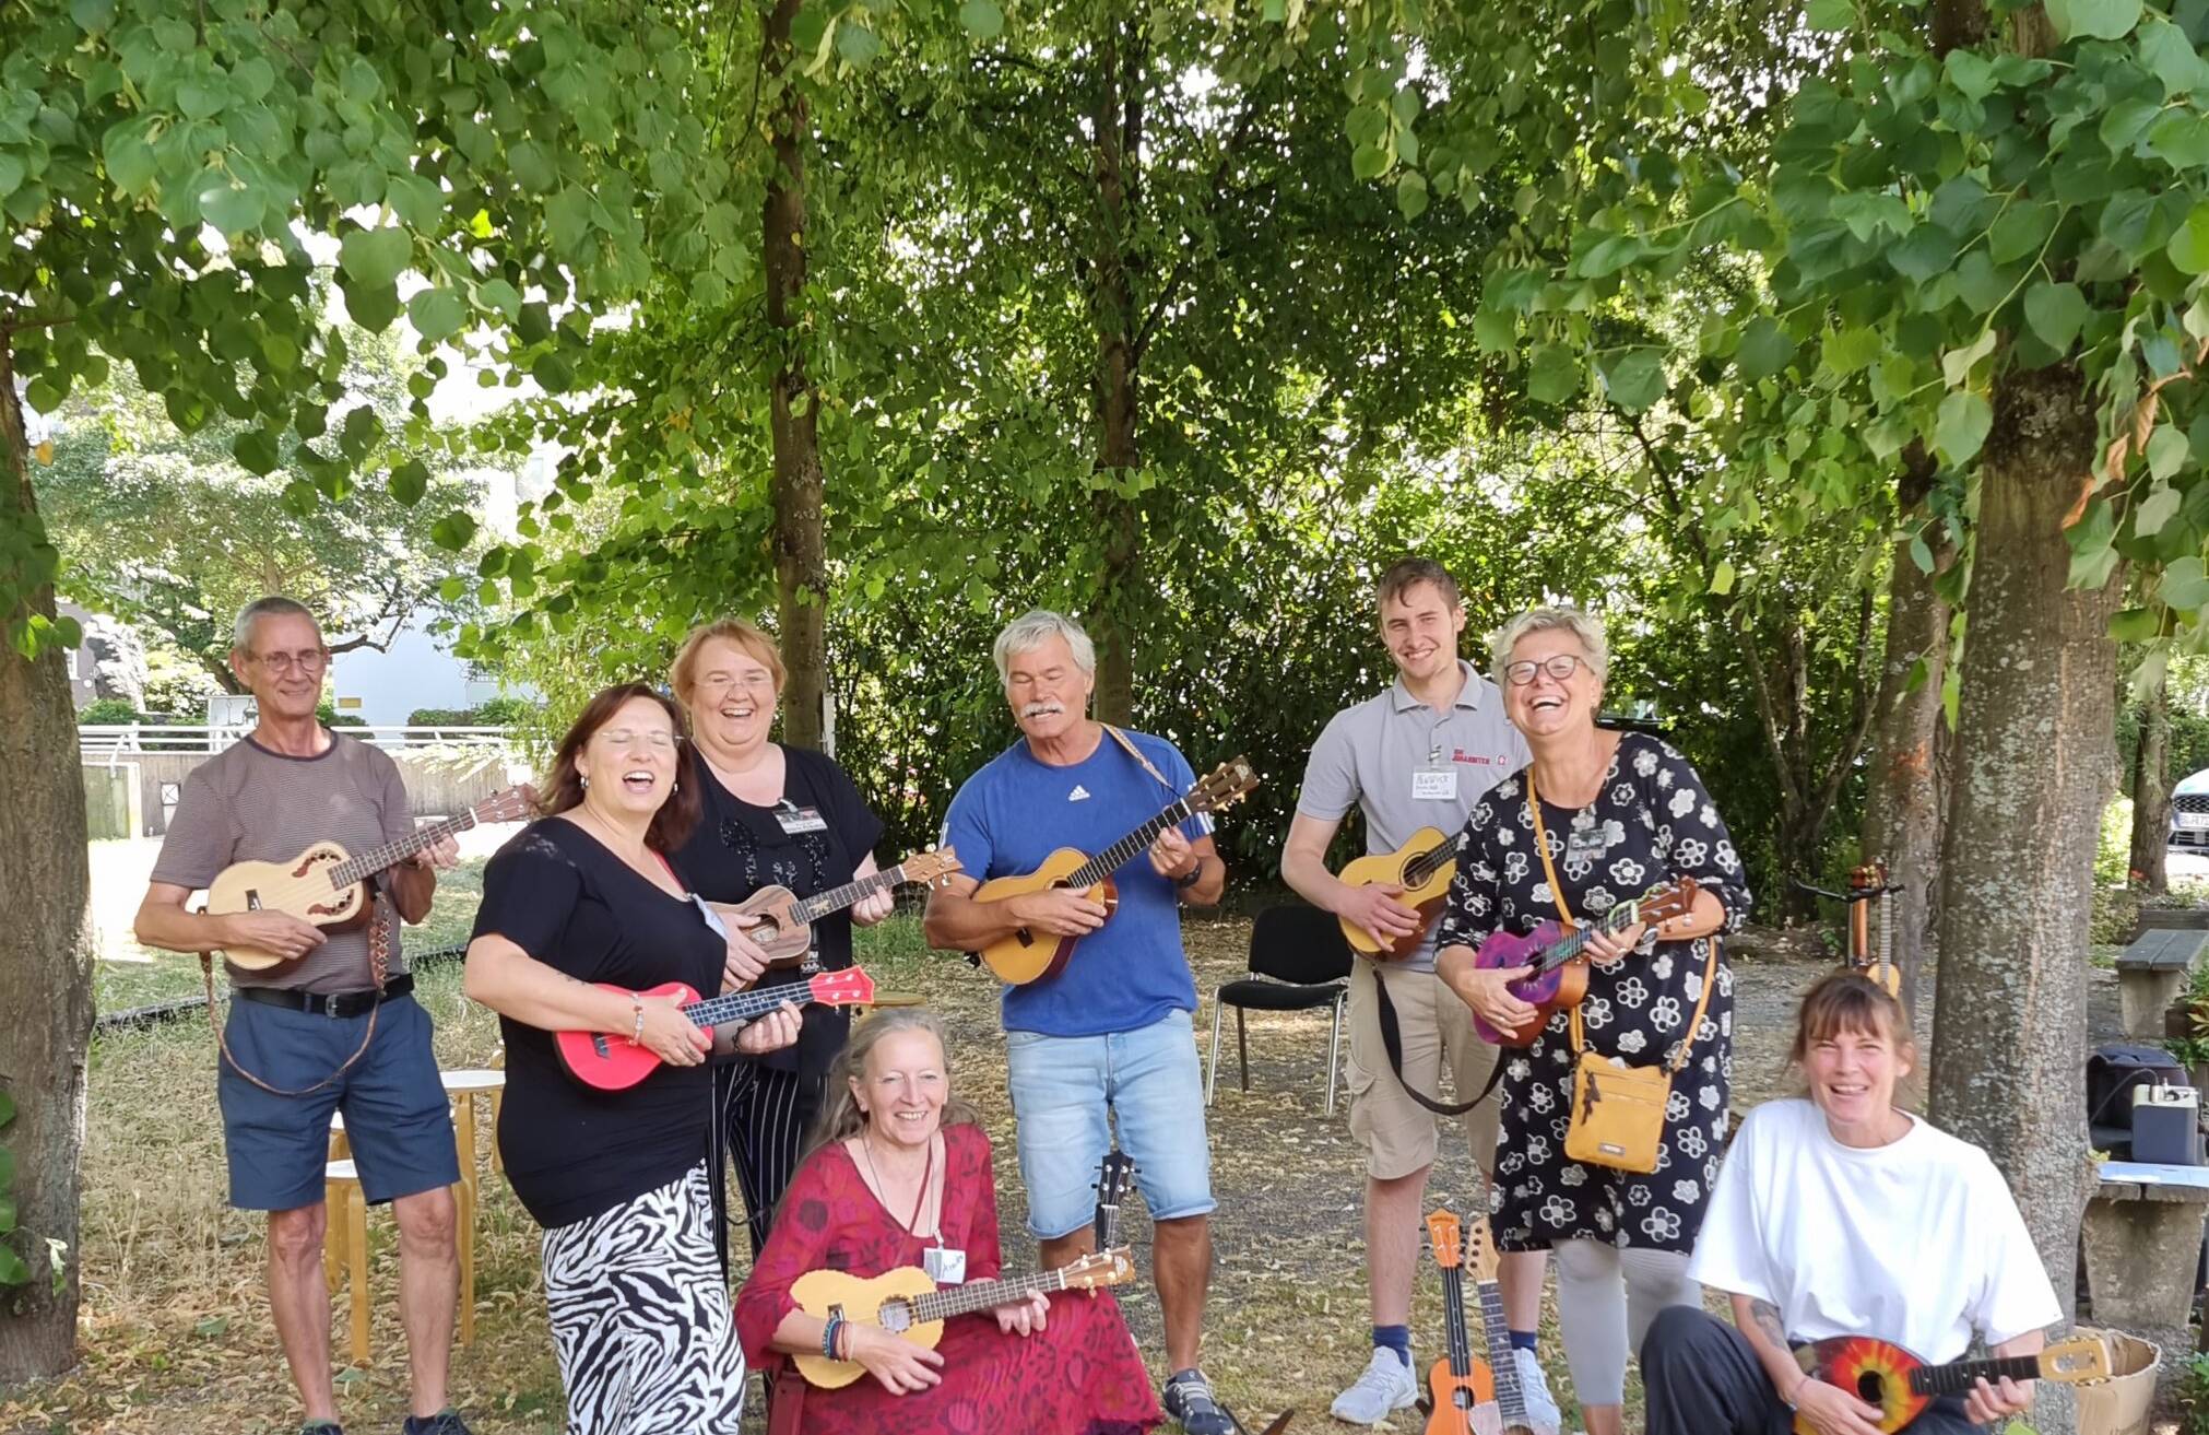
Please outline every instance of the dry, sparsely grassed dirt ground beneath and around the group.
[{"label": "dry, sparsely grassed dirt ground beneath and around the group", "polygon": [[[464,913],[455,918],[464,922]],[[954,1081],[981,1106],[998,1148],[1007,1265],[1029,1265],[1034,1247],[1018,1236],[1023,1201],[994,984],[965,962],[921,951],[910,920],[862,938],[862,960],[884,988],[917,991],[945,1015]],[[1197,1013],[1202,1048],[1211,1035],[1213,988],[1244,971],[1248,922],[1193,922],[1188,944],[1204,997]],[[1791,1010],[1822,971],[1822,962],[1803,960],[1743,957],[1736,964],[1736,1108],[1785,1090]],[[175,984],[172,968],[161,975]],[[190,977],[197,986],[197,971]],[[2094,971],[2092,982],[2094,1028],[2103,1033],[2116,1022],[2114,977]],[[429,968],[422,997],[437,1019],[446,1066],[479,1066],[490,1057],[497,1026],[459,995],[455,964]],[[1226,1070],[1211,1110],[1219,1212],[1204,1362],[1222,1397],[1253,1431],[1283,1408],[1297,1411],[1292,1431],[1341,1428],[1328,1417],[1328,1402],[1365,1364],[1367,1313],[1361,1161],[1343,1106],[1332,1117],[1323,1112],[1328,1022],[1323,1013],[1255,1013],[1248,1092],[1235,1079],[1233,1026],[1228,1015]],[[108,1033],[95,1041],[84,1170],[84,1364],[60,1382],[0,1391],[0,1433],[254,1435],[296,1428],[294,1393],[261,1293],[261,1227],[223,1207],[212,1061],[212,1041],[197,1022]],[[504,1181],[488,1174],[488,1132],[477,1159],[486,1170],[477,1214],[477,1333],[455,1355],[453,1395],[484,1435],[552,1433],[561,1397],[537,1285],[537,1234]],[[1429,1205],[1465,1209],[1469,1190],[1465,1145],[1445,1141]],[[1149,1223],[1140,1198],[1129,1203],[1124,1229],[1146,1278]],[[356,1433],[395,1431],[406,1413],[389,1216],[371,1216],[369,1234],[376,1353],[338,1375],[342,1413]],[[338,1360],[345,1360],[342,1302],[340,1291],[334,1300]],[[1127,1289],[1122,1305],[1158,1369],[1160,1320],[1151,1289]],[[1414,1302],[1423,1362],[1442,1349],[1440,1305],[1429,1263]],[[1571,1380],[1553,1327],[1542,1353],[1571,1408]],[[1420,1428],[1409,1415],[1387,1428]]]}]

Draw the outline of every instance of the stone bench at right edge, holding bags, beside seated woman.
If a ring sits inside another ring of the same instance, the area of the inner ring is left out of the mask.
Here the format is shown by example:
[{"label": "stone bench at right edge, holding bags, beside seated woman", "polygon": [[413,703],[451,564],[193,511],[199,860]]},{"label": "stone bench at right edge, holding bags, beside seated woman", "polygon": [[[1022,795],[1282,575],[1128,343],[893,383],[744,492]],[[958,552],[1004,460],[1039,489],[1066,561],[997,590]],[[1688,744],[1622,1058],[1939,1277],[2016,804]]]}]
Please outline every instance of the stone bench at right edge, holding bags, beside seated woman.
[{"label": "stone bench at right edge, holding bags, beside seated woman", "polygon": [[2103,1161],[2081,1247],[2094,1324],[2163,1347],[2163,1391],[2194,1358],[2194,1274],[2209,1223],[2209,1167]]}]

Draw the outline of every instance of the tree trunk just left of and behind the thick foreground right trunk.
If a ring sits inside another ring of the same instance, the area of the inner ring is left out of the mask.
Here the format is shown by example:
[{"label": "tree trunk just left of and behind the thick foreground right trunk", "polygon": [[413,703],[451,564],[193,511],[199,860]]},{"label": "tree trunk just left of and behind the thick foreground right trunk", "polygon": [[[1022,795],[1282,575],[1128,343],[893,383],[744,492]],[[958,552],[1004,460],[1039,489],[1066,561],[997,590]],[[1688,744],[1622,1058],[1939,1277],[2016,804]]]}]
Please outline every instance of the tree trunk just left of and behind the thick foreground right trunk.
[{"label": "tree trunk just left of and behind the thick foreground right trunk", "polygon": [[[1900,482],[1906,524],[1924,520],[1933,462],[1913,444]],[[1955,562],[1946,540],[1933,546],[1933,573],[1917,568],[1909,535],[1895,542],[1886,582],[1886,659],[1880,672],[1875,734],[1864,789],[1862,845],[1867,862],[1886,862],[1898,891],[1889,909],[1895,924],[1895,964],[1902,1002],[1917,1010],[1924,944],[1937,920],[1942,787],[1935,763],[1942,721],[1942,681],[1948,672],[1948,604],[1933,579]],[[1913,681],[1915,679],[1915,681]]]}]

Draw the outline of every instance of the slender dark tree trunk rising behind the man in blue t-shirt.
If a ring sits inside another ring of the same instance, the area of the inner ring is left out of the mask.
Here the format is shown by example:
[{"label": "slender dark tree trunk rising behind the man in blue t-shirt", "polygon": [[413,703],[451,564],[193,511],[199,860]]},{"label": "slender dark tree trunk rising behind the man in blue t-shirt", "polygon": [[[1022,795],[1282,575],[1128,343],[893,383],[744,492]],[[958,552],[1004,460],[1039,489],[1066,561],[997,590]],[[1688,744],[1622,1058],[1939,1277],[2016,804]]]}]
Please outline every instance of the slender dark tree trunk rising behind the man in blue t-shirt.
[{"label": "slender dark tree trunk rising behind the man in blue t-shirt", "polygon": [[[1098,102],[1091,130],[1098,177],[1098,228],[1091,254],[1089,314],[1098,336],[1096,471],[1109,484],[1127,480],[1142,464],[1135,440],[1135,296],[1127,272],[1124,243],[1133,232],[1129,164],[1142,161],[1142,108],[1133,86],[1140,73],[1129,66],[1122,77],[1122,38],[1118,20],[1107,22],[1098,57]],[[1102,486],[1091,493],[1091,513],[1104,542],[1096,575],[1091,637],[1098,648],[1096,716],[1107,723],[1129,723],[1135,712],[1135,643],[1131,615],[1140,604],[1142,584],[1142,513],[1135,500]]]}]

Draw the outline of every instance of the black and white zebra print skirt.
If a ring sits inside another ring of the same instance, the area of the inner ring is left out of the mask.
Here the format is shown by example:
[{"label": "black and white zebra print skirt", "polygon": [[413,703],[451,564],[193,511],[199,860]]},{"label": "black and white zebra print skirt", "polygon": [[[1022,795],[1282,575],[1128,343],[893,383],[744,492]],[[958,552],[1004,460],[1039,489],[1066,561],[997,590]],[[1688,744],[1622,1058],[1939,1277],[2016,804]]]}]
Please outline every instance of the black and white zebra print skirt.
[{"label": "black and white zebra print skirt", "polygon": [[543,1234],[568,1435],[736,1435],[744,1351],[705,1165]]}]

